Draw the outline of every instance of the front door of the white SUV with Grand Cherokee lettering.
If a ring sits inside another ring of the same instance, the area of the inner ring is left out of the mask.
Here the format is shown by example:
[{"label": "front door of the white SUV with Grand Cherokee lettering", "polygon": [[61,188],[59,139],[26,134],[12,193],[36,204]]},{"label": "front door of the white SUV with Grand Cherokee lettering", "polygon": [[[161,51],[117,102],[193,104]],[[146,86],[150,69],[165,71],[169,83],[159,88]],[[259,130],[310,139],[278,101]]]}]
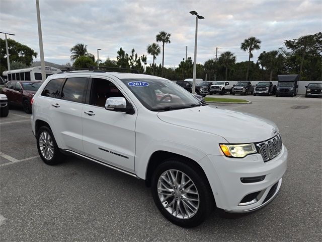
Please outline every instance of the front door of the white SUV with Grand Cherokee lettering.
[{"label": "front door of the white SUV with Grand Cherokee lettering", "polygon": [[128,100],[113,80],[93,78],[91,98],[82,111],[84,153],[134,173],[137,113],[106,110],[109,97]]}]

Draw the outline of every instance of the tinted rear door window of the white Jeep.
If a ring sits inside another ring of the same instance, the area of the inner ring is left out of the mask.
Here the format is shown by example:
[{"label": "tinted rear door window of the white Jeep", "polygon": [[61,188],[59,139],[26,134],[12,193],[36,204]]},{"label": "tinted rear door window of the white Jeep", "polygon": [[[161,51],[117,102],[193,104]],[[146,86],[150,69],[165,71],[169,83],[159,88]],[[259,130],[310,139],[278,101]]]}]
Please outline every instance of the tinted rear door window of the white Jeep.
[{"label": "tinted rear door window of the white Jeep", "polygon": [[87,78],[68,78],[61,92],[61,99],[85,103]]}]

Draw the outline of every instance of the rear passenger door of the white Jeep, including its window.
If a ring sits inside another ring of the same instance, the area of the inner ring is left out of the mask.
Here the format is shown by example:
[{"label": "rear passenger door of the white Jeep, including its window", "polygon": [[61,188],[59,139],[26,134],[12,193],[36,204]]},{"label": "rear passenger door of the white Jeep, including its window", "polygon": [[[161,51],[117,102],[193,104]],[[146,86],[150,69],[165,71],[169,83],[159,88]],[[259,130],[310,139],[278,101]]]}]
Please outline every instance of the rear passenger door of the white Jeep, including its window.
[{"label": "rear passenger door of the white Jeep, including its window", "polygon": [[[50,114],[57,138],[63,148],[83,154],[82,110],[89,78],[66,77],[60,99],[53,99]],[[56,138],[56,137],[55,137]]]}]

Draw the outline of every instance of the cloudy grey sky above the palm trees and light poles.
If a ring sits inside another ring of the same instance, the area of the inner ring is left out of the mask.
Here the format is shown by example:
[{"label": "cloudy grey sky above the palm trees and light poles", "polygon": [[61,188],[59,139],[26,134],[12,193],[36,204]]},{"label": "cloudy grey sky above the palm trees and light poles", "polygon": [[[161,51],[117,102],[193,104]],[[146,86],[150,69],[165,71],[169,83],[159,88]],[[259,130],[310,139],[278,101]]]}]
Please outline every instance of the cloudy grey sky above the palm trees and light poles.
[{"label": "cloudy grey sky above the palm trees and light poles", "polygon": [[[100,59],[115,59],[122,47],[130,53],[146,54],[146,46],[155,42],[159,31],[171,33],[165,47],[165,66],[175,67],[193,56],[195,10],[205,17],[198,21],[197,63],[224,51],[234,52],[237,62],[248,54],[239,49],[245,38],[262,40],[253,61],[266,50],[283,47],[285,39],[314,34],[322,30],[322,1],[216,0],[216,1],[90,1],[40,0],[45,60],[56,64],[69,61],[69,49],[76,43],[88,45],[88,51]],[[35,0],[1,0],[0,31],[14,33],[13,39],[39,53]],[[4,38],[3,35],[0,36]],[[37,61],[39,61],[39,56]],[[152,57],[148,56],[148,63]],[[156,63],[162,62],[160,54]]]}]

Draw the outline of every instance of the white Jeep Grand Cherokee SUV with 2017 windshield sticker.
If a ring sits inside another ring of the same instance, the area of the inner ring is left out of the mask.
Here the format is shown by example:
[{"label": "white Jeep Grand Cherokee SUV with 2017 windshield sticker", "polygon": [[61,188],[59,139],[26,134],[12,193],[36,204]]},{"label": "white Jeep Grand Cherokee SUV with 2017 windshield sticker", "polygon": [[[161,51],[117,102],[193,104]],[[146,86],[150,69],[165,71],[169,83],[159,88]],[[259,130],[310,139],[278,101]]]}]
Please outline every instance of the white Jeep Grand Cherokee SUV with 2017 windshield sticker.
[{"label": "white Jeep Grand Cherokee SUV with 2017 windshield sticker", "polygon": [[215,206],[244,213],[267,205],[286,170],[274,123],[207,105],[160,77],[52,75],[32,111],[45,163],[75,155],[144,179],[159,211],[184,227],[200,224]]}]

